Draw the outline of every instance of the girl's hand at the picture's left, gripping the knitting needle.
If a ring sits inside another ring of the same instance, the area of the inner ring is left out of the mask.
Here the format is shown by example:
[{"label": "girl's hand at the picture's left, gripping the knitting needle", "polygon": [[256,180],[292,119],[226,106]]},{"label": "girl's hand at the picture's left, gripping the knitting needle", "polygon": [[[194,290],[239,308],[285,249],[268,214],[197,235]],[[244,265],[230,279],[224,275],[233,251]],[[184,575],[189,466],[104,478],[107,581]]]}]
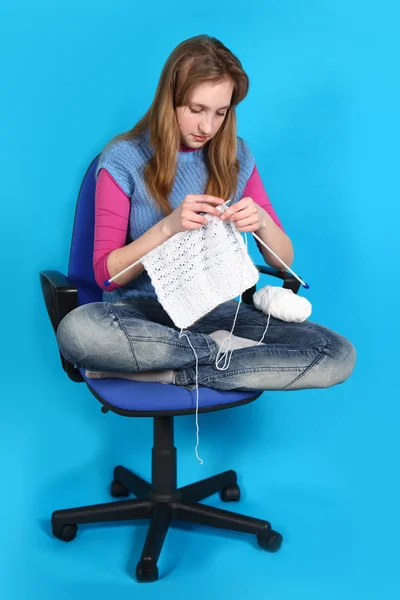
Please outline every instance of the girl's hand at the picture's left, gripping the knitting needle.
[{"label": "girl's hand at the picture's left, gripping the knitting needle", "polygon": [[199,213],[220,216],[219,210],[213,205],[224,204],[225,200],[207,194],[189,194],[181,204],[167,217],[164,218],[164,226],[169,236],[180,231],[189,229],[200,229],[207,224],[207,218]]}]

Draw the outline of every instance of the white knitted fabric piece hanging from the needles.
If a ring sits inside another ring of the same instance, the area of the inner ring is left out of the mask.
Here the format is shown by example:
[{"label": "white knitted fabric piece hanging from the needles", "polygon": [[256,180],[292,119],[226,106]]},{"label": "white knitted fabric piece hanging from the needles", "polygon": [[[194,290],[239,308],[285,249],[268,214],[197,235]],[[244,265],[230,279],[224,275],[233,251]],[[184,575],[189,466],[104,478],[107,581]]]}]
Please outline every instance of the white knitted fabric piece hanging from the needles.
[{"label": "white knitted fabric piece hanging from the needles", "polygon": [[159,302],[177,327],[190,327],[255,285],[259,273],[235,225],[207,215],[142,257]]}]

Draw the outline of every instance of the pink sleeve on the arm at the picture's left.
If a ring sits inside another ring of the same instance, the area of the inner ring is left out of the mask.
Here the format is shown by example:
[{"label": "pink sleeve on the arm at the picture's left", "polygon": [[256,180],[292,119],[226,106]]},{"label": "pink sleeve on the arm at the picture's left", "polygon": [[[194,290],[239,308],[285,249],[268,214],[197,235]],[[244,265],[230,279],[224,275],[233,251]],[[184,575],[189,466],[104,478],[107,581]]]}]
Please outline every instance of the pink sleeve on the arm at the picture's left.
[{"label": "pink sleeve on the arm at the picture's left", "polygon": [[100,169],[96,182],[93,269],[97,284],[108,292],[120,287],[110,278],[107,258],[112,250],[126,244],[130,199],[106,169]]}]

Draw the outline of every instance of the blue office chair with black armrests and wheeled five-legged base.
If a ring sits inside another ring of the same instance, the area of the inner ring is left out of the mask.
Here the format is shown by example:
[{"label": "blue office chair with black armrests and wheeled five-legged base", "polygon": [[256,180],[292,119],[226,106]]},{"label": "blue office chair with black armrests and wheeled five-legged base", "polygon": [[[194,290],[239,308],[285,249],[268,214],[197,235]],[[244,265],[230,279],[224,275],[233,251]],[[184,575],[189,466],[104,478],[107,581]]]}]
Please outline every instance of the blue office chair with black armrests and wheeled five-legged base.
[{"label": "blue office chair with black armrests and wheeled five-legged base", "polygon": [[[99,155],[89,166],[78,194],[70,250],[68,276],[59,271],[42,271],[40,281],[47,312],[54,331],[71,310],[102,300],[102,290],[94,279],[92,256],[94,238],[95,169]],[[283,287],[297,293],[299,282],[289,273],[257,266],[261,273],[283,280]],[[256,287],[244,292],[242,299],[252,303]],[[220,493],[223,502],[237,502],[240,489],[235,471],[203,479],[177,488],[177,455],[174,447],[174,417],[195,413],[195,391],[160,383],[142,383],[125,379],[88,379],[85,369],[77,368],[61,355],[65,373],[74,382],[86,383],[89,391],[102,404],[103,413],[113,411],[126,417],[152,417],[154,440],[151,483],[125,467],[114,469],[111,496],[135,499],[118,500],[94,506],[56,510],[52,514],[52,532],[60,540],[70,542],[78,525],[111,521],[150,519],[150,526],[140,560],[136,567],[139,582],[158,579],[157,561],[172,521],[253,534],[264,550],[279,549],[282,536],[268,521],[243,516],[200,504],[201,500]],[[259,398],[260,392],[219,391],[200,387],[199,413],[233,408]]]}]

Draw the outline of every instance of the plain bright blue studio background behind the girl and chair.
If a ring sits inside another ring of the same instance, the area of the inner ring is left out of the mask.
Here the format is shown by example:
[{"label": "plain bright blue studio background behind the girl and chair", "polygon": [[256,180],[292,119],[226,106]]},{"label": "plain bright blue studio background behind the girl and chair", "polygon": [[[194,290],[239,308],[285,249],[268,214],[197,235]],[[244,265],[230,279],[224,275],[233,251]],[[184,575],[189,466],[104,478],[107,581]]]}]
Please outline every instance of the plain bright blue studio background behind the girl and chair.
[{"label": "plain bright blue studio background behind the girl and chair", "polygon": [[[399,598],[397,7],[2,0],[3,598]],[[148,108],[172,49],[199,33],[250,76],[239,134],[293,239],[313,320],[349,337],[358,362],[344,385],[202,416],[203,466],[194,418],[177,420],[179,482],[237,469],[233,510],[269,519],[285,543],[270,555],[246,536],[179,526],[162,578],[143,587],[132,575],[145,525],[51,537],[52,510],[108,500],[115,464],[149,475],[152,423],[102,415],[67,379],[38,273],[66,271],[88,164]]]}]

